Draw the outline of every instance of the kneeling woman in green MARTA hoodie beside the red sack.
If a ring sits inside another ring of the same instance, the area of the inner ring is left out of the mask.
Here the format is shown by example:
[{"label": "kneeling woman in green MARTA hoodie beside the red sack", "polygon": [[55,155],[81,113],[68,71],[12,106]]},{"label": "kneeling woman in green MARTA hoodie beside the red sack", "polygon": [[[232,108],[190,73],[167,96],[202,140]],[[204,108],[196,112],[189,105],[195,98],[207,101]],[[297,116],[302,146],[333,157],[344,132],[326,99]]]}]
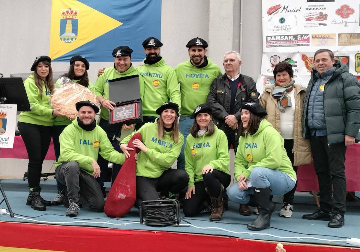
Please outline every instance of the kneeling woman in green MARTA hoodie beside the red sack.
[{"label": "kneeling woman in green MARTA hoodie beside the red sack", "polygon": [[[186,187],[189,176],[184,170],[171,169],[171,165],[179,157],[184,136],[179,132],[177,117],[179,106],[176,103],[162,104],[156,113],[160,115],[156,122],[145,123],[137,131],[142,141],[135,139],[134,147],[141,151],[136,164],[136,202],[156,200],[161,195],[177,194]],[[120,143],[120,148],[129,157],[127,143],[132,135]]]}]

